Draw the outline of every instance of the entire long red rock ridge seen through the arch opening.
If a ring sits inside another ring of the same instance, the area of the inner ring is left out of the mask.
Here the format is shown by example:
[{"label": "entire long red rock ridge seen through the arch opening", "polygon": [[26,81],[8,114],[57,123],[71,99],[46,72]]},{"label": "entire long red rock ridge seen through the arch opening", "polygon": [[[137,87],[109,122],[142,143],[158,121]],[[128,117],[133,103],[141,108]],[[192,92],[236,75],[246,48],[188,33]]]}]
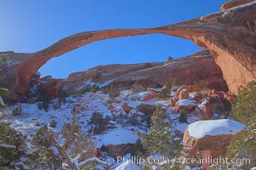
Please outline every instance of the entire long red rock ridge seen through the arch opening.
[{"label": "entire long red rock ridge seen through the arch opening", "polygon": [[39,84],[44,88],[49,99],[56,98],[60,90],[70,93],[94,84],[103,88],[111,84],[128,87],[134,82],[161,87],[173,82],[203,83],[205,88],[228,90],[219,66],[215,64],[212,54],[207,49],[185,58],[173,59],[168,64],[150,63],[150,68],[145,68],[144,65],[96,66],[88,71],[72,73],[65,80],[44,77],[40,79]]}]

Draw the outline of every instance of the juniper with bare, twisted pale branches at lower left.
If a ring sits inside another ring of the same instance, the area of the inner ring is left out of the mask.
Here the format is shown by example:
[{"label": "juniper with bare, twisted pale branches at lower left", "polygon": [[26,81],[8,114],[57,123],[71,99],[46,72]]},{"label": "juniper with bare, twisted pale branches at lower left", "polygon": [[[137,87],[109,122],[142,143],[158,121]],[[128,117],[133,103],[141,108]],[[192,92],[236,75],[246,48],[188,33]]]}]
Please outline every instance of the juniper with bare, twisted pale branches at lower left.
[{"label": "juniper with bare, twisted pale branches at lower left", "polygon": [[[60,168],[61,161],[68,164],[68,169],[94,169],[94,163],[98,162],[110,167],[107,162],[101,161],[94,156],[94,143],[90,138],[85,136],[77,121],[77,109],[72,109],[72,123],[66,123],[61,131],[62,137],[65,139],[61,144],[57,135],[48,127],[44,126],[38,130],[34,136],[34,143],[51,157],[50,164],[54,168]],[[53,150],[55,148],[56,151]],[[58,154],[56,154],[57,152]]]}]

